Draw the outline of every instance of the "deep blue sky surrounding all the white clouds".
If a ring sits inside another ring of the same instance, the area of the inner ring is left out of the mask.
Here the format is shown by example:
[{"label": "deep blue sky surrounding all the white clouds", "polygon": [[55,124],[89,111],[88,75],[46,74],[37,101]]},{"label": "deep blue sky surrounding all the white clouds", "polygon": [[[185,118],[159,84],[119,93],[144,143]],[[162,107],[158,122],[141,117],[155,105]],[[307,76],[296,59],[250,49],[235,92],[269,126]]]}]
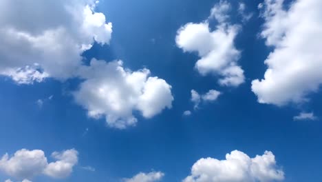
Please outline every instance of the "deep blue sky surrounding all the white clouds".
[{"label": "deep blue sky surrounding all the white clouds", "polygon": [[[175,182],[188,176],[193,163],[202,157],[224,159],[232,150],[253,157],[270,150],[286,173],[285,181],[322,181],[322,123],[293,121],[301,110],[322,117],[322,93],[312,94],[310,102],[303,105],[279,108],[257,103],[251,92],[251,81],[263,77],[264,60],[270,52],[265,40],[256,36],[263,23],[257,18],[260,1],[246,1],[255,15],[235,41],[242,50],[239,64],[246,74],[246,83],[241,86],[219,87],[216,77],[200,76],[194,69],[197,55],[176,47],[178,28],[206,19],[216,2],[101,1],[97,10],[113,23],[114,32],[110,45],[94,45],[85,52],[85,61],[93,57],[121,59],[131,70],[149,68],[153,76],[172,85],[173,108],[152,119],[137,116],[136,127],[116,130],[106,127],[104,119],[89,119],[75,103],[69,92],[76,89],[76,80],[61,83],[47,79],[45,83],[17,85],[1,77],[0,154],[21,148],[42,149],[46,154],[75,148],[79,163],[72,176],[59,181],[117,181],[138,172],[161,170],[166,174],[163,181]],[[190,117],[182,117],[184,110],[193,108],[192,89],[215,89],[224,94]],[[45,101],[42,108],[36,105],[38,99],[50,95],[53,99]],[[96,172],[81,169],[87,165]],[[5,179],[8,177],[0,174],[0,181]],[[35,181],[43,180],[55,181],[42,177]]]}]

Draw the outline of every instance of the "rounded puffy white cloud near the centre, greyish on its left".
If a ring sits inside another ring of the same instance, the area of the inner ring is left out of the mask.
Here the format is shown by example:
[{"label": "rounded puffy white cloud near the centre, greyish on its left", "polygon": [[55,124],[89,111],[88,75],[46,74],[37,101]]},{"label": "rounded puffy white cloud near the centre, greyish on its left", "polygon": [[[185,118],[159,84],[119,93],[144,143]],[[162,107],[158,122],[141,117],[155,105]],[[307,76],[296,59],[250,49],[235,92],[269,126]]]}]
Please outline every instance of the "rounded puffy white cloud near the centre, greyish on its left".
[{"label": "rounded puffy white cloud near the centre, greyish on its left", "polygon": [[172,107],[171,85],[149,75],[147,69],[132,72],[123,68],[122,61],[93,59],[90,66],[82,68],[85,81],[74,97],[89,117],[105,117],[110,127],[124,129],[137,123],[133,111],[149,119]]}]

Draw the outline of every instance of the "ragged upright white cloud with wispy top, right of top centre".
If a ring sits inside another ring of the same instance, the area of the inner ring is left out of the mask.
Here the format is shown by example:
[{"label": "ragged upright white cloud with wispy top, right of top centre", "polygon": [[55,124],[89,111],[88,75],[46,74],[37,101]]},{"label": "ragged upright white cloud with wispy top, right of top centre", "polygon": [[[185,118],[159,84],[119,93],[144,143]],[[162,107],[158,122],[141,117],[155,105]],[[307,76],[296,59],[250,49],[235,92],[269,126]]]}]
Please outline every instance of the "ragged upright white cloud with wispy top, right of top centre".
[{"label": "ragged upright white cloud with wispy top, right of top centre", "polygon": [[[244,70],[238,65],[240,51],[235,48],[239,26],[228,22],[230,3],[220,1],[211,10],[210,17],[201,23],[186,23],[175,38],[178,48],[184,52],[197,52],[200,59],[195,68],[202,75],[219,75],[219,84],[237,86],[244,83]],[[208,21],[217,20],[211,31]]]}]

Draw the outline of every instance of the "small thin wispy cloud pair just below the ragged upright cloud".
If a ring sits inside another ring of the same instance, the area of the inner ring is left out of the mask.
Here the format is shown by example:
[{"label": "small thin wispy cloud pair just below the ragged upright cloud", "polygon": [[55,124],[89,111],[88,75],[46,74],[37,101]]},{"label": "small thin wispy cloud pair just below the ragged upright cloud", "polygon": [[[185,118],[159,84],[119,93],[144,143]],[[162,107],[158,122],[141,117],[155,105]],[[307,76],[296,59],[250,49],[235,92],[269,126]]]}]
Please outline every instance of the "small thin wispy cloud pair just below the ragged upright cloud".
[{"label": "small thin wispy cloud pair just below the ragged upright cloud", "polygon": [[196,110],[202,101],[216,101],[220,94],[221,92],[217,90],[209,90],[206,94],[200,95],[197,91],[191,90],[191,102],[194,104],[193,108]]}]

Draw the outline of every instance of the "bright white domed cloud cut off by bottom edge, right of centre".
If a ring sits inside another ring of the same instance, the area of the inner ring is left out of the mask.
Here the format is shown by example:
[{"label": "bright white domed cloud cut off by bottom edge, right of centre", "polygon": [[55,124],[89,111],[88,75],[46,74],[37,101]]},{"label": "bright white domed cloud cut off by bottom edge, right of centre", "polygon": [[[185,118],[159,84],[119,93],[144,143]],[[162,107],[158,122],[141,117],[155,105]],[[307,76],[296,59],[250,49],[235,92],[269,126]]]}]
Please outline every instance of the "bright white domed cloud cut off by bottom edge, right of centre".
[{"label": "bright white domed cloud cut off by bottom edge, right of centre", "polygon": [[247,154],[235,150],[226,154],[226,160],[207,158],[197,161],[191,176],[183,182],[250,182],[282,181],[284,173],[280,170],[272,152],[250,158]]}]

